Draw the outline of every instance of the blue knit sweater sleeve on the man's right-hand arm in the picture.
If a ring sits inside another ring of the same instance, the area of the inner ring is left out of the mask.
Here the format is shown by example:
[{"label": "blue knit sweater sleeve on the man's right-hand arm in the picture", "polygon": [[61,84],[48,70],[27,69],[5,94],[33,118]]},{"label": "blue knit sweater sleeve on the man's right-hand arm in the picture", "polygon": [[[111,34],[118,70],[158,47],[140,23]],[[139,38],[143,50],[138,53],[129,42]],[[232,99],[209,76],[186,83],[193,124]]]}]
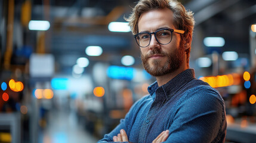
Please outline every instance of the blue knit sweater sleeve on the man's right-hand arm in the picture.
[{"label": "blue knit sweater sleeve on the man's right-hand arm in the picture", "polygon": [[166,142],[224,141],[226,112],[220,94],[207,86],[192,88],[185,94],[177,104]]}]

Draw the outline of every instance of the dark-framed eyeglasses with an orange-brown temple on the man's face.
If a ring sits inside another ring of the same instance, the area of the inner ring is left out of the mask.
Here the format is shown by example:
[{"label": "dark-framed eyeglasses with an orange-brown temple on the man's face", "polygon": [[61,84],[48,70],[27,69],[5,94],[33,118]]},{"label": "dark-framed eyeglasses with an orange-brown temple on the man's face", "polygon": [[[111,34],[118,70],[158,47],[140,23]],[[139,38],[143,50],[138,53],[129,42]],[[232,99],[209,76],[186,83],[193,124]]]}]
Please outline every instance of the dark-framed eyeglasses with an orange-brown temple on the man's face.
[{"label": "dark-framed eyeglasses with an orange-brown temple on the man's face", "polygon": [[171,42],[172,40],[172,32],[183,34],[184,30],[177,30],[177,29],[159,29],[155,32],[141,32],[136,35],[134,35],[134,38],[136,42],[138,43],[138,46],[145,48],[146,46],[149,46],[152,34],[155,35],[156,41],[158,43],[161,43],[162,45],[166,45]]}]

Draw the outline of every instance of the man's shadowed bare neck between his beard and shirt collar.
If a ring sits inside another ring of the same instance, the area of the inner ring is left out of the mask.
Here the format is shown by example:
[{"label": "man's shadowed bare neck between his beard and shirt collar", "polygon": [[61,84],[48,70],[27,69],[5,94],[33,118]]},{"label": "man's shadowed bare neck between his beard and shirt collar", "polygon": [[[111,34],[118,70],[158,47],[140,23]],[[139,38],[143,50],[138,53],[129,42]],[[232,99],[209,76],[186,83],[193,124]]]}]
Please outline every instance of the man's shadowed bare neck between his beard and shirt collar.
[{"label": "man's shadowed bare neck between his beard and shirt collar", "polygon": [[157,76],[156,80],[158,81],[158,86],[160,87],[162,85],[165,85],[167,82],[169,82],[169,80],[173,79],[175,76],[177,76],[182,71],[187,70],[187,69],[189,69],[189,68],[188,67],[180,68],[171,73],[165,74],[164,76]]}]

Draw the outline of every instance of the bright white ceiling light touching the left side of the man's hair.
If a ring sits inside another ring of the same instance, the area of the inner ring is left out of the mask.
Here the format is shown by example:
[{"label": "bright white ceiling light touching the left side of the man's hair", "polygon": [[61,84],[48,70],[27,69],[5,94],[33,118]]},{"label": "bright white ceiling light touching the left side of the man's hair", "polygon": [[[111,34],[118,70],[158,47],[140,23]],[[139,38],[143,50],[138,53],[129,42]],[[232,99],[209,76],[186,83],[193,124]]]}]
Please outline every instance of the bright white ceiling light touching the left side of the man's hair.
[{"label": "bright white ceiling light touching the left side of the man's hair", "polygon": [[110,32],[130,32],[131,29],[128,23],[123,22],[110,22],[109,23]]}]

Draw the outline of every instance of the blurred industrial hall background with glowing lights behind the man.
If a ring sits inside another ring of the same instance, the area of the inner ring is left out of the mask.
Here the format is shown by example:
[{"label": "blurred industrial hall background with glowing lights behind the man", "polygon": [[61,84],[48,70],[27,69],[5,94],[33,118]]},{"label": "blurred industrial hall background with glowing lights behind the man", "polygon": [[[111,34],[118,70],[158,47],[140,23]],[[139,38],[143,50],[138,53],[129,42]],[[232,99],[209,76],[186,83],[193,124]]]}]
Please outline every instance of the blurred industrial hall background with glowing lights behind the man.
[{"label": "blurred industrial hall background with glowing lights behind the man", "polygon": [[[155,81],[124,16],[137,0],[0,1],[0,142],[97,142]],[[256,1],[180,0],[190,67],[226,103],[227,142],[256,141]]]}]

